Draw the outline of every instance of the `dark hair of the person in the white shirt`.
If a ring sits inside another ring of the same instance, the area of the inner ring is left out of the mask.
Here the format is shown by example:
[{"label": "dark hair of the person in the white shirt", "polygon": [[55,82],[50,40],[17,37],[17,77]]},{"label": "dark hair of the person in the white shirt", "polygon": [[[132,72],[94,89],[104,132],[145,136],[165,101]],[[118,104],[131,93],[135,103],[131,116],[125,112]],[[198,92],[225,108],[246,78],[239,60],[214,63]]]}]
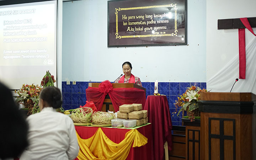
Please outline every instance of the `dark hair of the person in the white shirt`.
[{"label": "dark hair of the person in the white shirt", "polygon": [[48,103],[48,107],[53,107],[55,109],[61,107],[62,105],[62,95],[57,87],[49,86],[42,89],[39,97]]}]

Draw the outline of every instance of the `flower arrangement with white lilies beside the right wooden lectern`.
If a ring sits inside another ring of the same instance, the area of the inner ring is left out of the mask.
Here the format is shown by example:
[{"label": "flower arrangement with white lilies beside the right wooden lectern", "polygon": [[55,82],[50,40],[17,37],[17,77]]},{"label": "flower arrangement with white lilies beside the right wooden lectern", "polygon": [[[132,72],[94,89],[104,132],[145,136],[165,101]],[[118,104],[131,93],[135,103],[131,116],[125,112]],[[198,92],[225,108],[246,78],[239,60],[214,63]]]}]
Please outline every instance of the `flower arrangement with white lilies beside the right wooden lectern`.
[{"label": "flower arrangement with white lilies beside the right wooden lectern", "polygon": [[177,97],[178,100],[176,100],[174,103],[176,111],[178,108],[180,108],[180,110],[177,113],[177,116],[180,114],[182,110],[185,110],[187,111],[187,115],[189,116],[188,118],[191,119],[191,122],[194,121],[195,116],[199,115],[199,106],[197,101],[200,100],[201,92],[207,92],[207,90],[200,89],[196,86],[187,87],[186,92],[183,93],[180,97]]}]

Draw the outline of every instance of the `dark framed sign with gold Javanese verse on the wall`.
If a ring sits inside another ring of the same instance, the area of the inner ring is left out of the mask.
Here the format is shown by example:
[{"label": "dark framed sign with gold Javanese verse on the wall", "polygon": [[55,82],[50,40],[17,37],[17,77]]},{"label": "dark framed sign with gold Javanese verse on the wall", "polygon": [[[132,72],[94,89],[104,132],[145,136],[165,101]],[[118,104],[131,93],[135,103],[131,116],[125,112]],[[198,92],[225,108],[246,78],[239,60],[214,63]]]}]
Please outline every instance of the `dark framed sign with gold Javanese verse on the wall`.
[{"label": "dark framed sign with gold Javanese verse on the wall", "polygon": [[187,0],[109,0],[108,47],[187,44]]}]

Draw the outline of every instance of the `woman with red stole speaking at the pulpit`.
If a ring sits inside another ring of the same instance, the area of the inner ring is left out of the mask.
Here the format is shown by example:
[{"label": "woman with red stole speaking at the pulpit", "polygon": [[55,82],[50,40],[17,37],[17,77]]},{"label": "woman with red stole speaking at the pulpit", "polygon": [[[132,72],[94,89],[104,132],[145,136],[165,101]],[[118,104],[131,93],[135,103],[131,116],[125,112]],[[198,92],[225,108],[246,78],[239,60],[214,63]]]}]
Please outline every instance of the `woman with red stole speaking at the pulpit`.
[{"label": "woman with red stole speaking at the pulpit", "polygon": [[119,77],[114,83],[135,83],[142,86],[140,79],[132,74],[132,64],[124,62],[122,65],[124,75]]}]

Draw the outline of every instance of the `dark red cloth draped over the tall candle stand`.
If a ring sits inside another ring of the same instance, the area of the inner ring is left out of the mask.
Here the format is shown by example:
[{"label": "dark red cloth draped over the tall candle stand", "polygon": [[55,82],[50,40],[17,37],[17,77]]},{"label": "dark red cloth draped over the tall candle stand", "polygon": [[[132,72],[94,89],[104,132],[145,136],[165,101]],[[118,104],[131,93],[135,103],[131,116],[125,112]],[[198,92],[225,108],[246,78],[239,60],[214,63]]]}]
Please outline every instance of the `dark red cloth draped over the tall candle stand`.
[{"label": "dark red cloth draped over the tall candle stand", "polygon": [[148,96],[144,110],[148,110],[149,123],[152,124],[154,160],[162,160],[164,143],[172,150],[172,123],[166,96]]}]

